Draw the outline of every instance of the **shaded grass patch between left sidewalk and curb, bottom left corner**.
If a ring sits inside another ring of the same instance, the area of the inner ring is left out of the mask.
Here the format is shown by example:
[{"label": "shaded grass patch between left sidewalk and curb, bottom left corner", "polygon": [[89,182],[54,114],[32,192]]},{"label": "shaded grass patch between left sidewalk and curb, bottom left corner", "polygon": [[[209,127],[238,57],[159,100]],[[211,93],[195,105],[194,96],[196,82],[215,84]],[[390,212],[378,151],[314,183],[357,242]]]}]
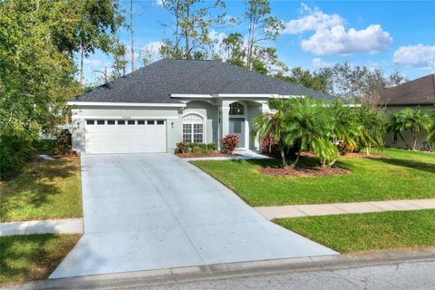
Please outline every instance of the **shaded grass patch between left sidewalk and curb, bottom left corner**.
[{"label": "shaded grass patch between left sidewalk and curb, bottom left corner", "polygon": [[48,277],[81,235],[0,237],[0,283],[18,283]]}]

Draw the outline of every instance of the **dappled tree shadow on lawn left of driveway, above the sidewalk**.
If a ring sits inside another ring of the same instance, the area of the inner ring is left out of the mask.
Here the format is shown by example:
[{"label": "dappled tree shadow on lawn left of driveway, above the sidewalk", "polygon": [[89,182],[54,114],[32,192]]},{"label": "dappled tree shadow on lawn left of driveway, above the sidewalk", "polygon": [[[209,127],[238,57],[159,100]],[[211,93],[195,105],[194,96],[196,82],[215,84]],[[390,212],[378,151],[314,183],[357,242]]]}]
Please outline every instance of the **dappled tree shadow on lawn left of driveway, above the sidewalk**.
[{"label": "dappled tree shadow on lawn left of driveway, above the sidewalk", "polygon": [[56,179],[72,177],[77,173],[78,167],[73,160],[42,160],[27,164],[18,176],[3,185],[0,219],[5,218],[7,208],[10,208],[3,205],[9,204],[12,205],[11,208],[16,209],[18,205],[14,200],[19,196],[26,199],[25,205],[31,204],[35,208],[46,204],[48,198],[62,193]]}]

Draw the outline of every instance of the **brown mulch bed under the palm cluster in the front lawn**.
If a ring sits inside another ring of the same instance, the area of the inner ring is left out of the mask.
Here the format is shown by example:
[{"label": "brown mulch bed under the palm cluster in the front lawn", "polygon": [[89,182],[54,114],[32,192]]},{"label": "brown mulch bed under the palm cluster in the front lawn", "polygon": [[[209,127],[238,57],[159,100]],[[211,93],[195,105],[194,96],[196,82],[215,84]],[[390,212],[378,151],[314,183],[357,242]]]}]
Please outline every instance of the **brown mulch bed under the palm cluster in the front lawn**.
[{"label": "brown mulch bed under the palm cluster in the front lawn", "polygon": [[352,173],[351,170],[329,167],[296,167],[294,169],[290,167],[285,169],[266,167],[259,169],[258,172],[261,174],[279,176],[283,178],[315,178],[327,175],[343,175]]}]

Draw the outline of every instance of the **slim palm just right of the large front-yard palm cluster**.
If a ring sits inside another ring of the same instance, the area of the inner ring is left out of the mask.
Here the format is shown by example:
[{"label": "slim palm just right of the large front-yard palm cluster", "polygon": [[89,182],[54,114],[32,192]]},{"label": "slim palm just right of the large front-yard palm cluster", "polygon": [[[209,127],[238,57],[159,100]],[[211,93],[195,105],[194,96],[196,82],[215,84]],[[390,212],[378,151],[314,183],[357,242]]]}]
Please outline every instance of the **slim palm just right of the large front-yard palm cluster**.
[{"label": "slim palm just right of the large front-yard palm cluster", "polygon": [[362,104],[357,111],[358,121],[361,124],[358,139],[365,146],[365,152],[370,155],[374,146],[377,150],[383,147],[383,133],[385,131],[385,119],[382,111],[368,104]]}]

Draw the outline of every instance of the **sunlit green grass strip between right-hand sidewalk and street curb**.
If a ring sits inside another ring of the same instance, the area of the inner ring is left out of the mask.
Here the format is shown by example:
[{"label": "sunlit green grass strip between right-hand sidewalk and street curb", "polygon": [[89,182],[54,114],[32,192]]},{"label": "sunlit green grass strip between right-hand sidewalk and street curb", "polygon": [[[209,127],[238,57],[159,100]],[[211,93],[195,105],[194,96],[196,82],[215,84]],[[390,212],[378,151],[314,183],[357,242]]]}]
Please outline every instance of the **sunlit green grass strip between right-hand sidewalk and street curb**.
[{"label": "sunlit green grass strip between right-hand sidewalk and street curb", "polygon": [[435,246],[434,209],[278,218],[275,223],[340,253]]}]

